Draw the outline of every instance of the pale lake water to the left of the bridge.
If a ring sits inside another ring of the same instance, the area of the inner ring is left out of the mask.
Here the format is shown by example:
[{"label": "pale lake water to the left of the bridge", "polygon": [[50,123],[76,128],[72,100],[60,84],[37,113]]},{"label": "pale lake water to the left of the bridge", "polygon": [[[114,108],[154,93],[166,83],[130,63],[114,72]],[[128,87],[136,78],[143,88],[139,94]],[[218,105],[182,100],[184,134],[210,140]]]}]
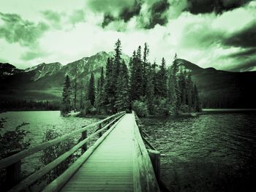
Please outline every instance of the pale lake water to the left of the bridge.
[{"label": "pale lake water to the left of the bridge", "polygon": [[[30,131],[28,135],[31,138],[31,146],[42,142],[42,137],[48,128],[54,128],[61,134],[67,134],[81,126],[89,125],[97,121],[96,118],[76,118],[74,116],[61,117],[59,111],[25,111],[25,112],[3,112],[0,118],[7,118],[4,123],[4,130],[15,129],[21,123],[29,123],[23,129]],[[78,136],[79,137],[79,136]],[[24,174],[29,174],[42,166],[39,162],[41,153],[35,153],[22,161]]]}]

